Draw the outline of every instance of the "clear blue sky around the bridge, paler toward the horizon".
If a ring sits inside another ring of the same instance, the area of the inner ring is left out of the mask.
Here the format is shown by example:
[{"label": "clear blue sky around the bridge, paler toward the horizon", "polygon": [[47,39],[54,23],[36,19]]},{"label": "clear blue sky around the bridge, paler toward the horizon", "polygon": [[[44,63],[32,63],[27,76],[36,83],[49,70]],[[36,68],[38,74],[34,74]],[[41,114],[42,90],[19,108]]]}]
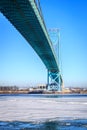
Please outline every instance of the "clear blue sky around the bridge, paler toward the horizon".
[{"label": "clear blue sky around the bridge, paler toward the horizon", "polygon": [[[40,0],[47,28],[60,29],[65,86],[87,87],[87,0]],[[21,34],[0,14],[0,85],[46,83],[47,70]]]}]

